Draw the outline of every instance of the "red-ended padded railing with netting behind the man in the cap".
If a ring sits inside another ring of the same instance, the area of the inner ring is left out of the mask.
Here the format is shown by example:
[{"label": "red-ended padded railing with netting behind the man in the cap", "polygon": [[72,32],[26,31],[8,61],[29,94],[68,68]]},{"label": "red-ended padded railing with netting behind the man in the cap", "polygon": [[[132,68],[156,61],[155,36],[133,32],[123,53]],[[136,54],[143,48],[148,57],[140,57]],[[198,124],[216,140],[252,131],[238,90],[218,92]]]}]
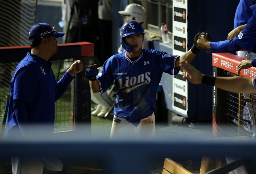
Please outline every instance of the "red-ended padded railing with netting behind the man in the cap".
[{"label": "red-ended padded railing with netting behind the man in the cap", "polygon": [[[17,64],[30,52],[30,46],[0,47],[0,128],[6,108],[6,96],[9,95],[9,82]],[[89,42],[58,45],[58,53],[50,60],[56,80],[61,79],[75,60],[82,60],[84,67],[94,61],[94,44]],[[76,125],[91,123],[91,94],[86,68],[76,74],[66,93],[55,102],[55,132],[73,131]],[[79,129],[91,129],[90,124]],[[77,127],[78,129],[78,127]],[[82,130],[83,131],[83,130]],[[3,133],[2,133],[3,134]]]}]

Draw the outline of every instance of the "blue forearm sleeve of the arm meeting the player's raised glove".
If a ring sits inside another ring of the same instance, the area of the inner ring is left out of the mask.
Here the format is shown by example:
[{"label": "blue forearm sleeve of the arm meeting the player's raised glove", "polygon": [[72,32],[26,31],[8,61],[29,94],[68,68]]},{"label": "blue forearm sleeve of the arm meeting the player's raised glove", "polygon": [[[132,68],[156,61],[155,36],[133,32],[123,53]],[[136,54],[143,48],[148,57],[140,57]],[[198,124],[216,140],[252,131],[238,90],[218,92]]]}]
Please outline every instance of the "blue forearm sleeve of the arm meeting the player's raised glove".
[{"label": "blue forearm sleeve of the arm meeting the player's raised glove", "polygon": [[233,39],[219,42],[210,42],[210,47],[218,51],[239,51],[242,49]]}]

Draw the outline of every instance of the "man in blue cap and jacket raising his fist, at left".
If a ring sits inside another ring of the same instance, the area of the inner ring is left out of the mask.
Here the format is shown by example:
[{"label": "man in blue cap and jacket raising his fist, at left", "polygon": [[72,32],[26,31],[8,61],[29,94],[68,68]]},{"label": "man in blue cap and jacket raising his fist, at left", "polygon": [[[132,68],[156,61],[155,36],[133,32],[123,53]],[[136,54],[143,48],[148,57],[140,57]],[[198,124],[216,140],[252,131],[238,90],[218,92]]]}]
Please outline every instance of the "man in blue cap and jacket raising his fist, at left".
[{"label": "man in blue cap and jacket raising his fist, at left", "polygon": [[[31,52],[19,62],[10,82],[7,138],[51,136],[54,129],[55,101],[66,91],[74,75],[83,69],[82,61],[74,62],[57,82],[49,58],[57,53],[57,37],[64,36],[46,23],[30,28]],[[41,127],[43,125],[43,127]],[[56,157],[12,157],[13,174],[42,174],[62,170]]]}]

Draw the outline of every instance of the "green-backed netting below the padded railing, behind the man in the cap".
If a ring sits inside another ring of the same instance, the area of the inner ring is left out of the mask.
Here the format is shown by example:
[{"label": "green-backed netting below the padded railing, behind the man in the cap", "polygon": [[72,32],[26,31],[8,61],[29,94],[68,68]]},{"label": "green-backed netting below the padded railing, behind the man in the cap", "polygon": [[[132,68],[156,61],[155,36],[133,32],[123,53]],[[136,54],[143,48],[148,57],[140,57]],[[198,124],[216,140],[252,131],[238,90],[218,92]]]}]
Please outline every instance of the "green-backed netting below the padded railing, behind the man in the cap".
[{"label": "green-backed netting below the padded railing, behind the man in the cap", "polygon": [[[58,81],[64,75],[67,68],[63,68],[63,61],[56,60],[51,62],[53,63],[52,69],[54,75]],[[73,62],[73,59],[68,59],[65,60],[64,64],[69,64],[70,66]],[[6,107],[6,96],[9,95],[9,82],[18,63],[19,62],[0,63],[0,130],[3,125],[4,111]],[[55,132],[73,130],[74,80],[72,80],[65,94],[55,102]]]}]

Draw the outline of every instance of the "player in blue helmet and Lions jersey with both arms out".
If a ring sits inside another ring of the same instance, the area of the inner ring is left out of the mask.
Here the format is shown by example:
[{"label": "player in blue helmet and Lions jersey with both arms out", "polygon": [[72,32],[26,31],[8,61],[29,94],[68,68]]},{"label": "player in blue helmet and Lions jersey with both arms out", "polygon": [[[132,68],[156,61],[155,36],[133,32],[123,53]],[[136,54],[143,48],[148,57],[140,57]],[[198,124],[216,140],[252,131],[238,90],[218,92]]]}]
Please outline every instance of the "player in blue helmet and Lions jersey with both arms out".
[{"label": "player in blue helmet and Lions jersey with both arms out", "polygon": [[120,42],[125,51],[106,60],[99,73],[96,64],[89,65],[85,73],[95,93],[104,93],[113,82],[117,88],[110,138],[124,135],[154,137],[155,95],[162,74],[178,74],[180,60],[191,62],[199,51],[193,46],[182,56],[176,56],[142,49],[144,34],[139,22],[123,24]]}]

